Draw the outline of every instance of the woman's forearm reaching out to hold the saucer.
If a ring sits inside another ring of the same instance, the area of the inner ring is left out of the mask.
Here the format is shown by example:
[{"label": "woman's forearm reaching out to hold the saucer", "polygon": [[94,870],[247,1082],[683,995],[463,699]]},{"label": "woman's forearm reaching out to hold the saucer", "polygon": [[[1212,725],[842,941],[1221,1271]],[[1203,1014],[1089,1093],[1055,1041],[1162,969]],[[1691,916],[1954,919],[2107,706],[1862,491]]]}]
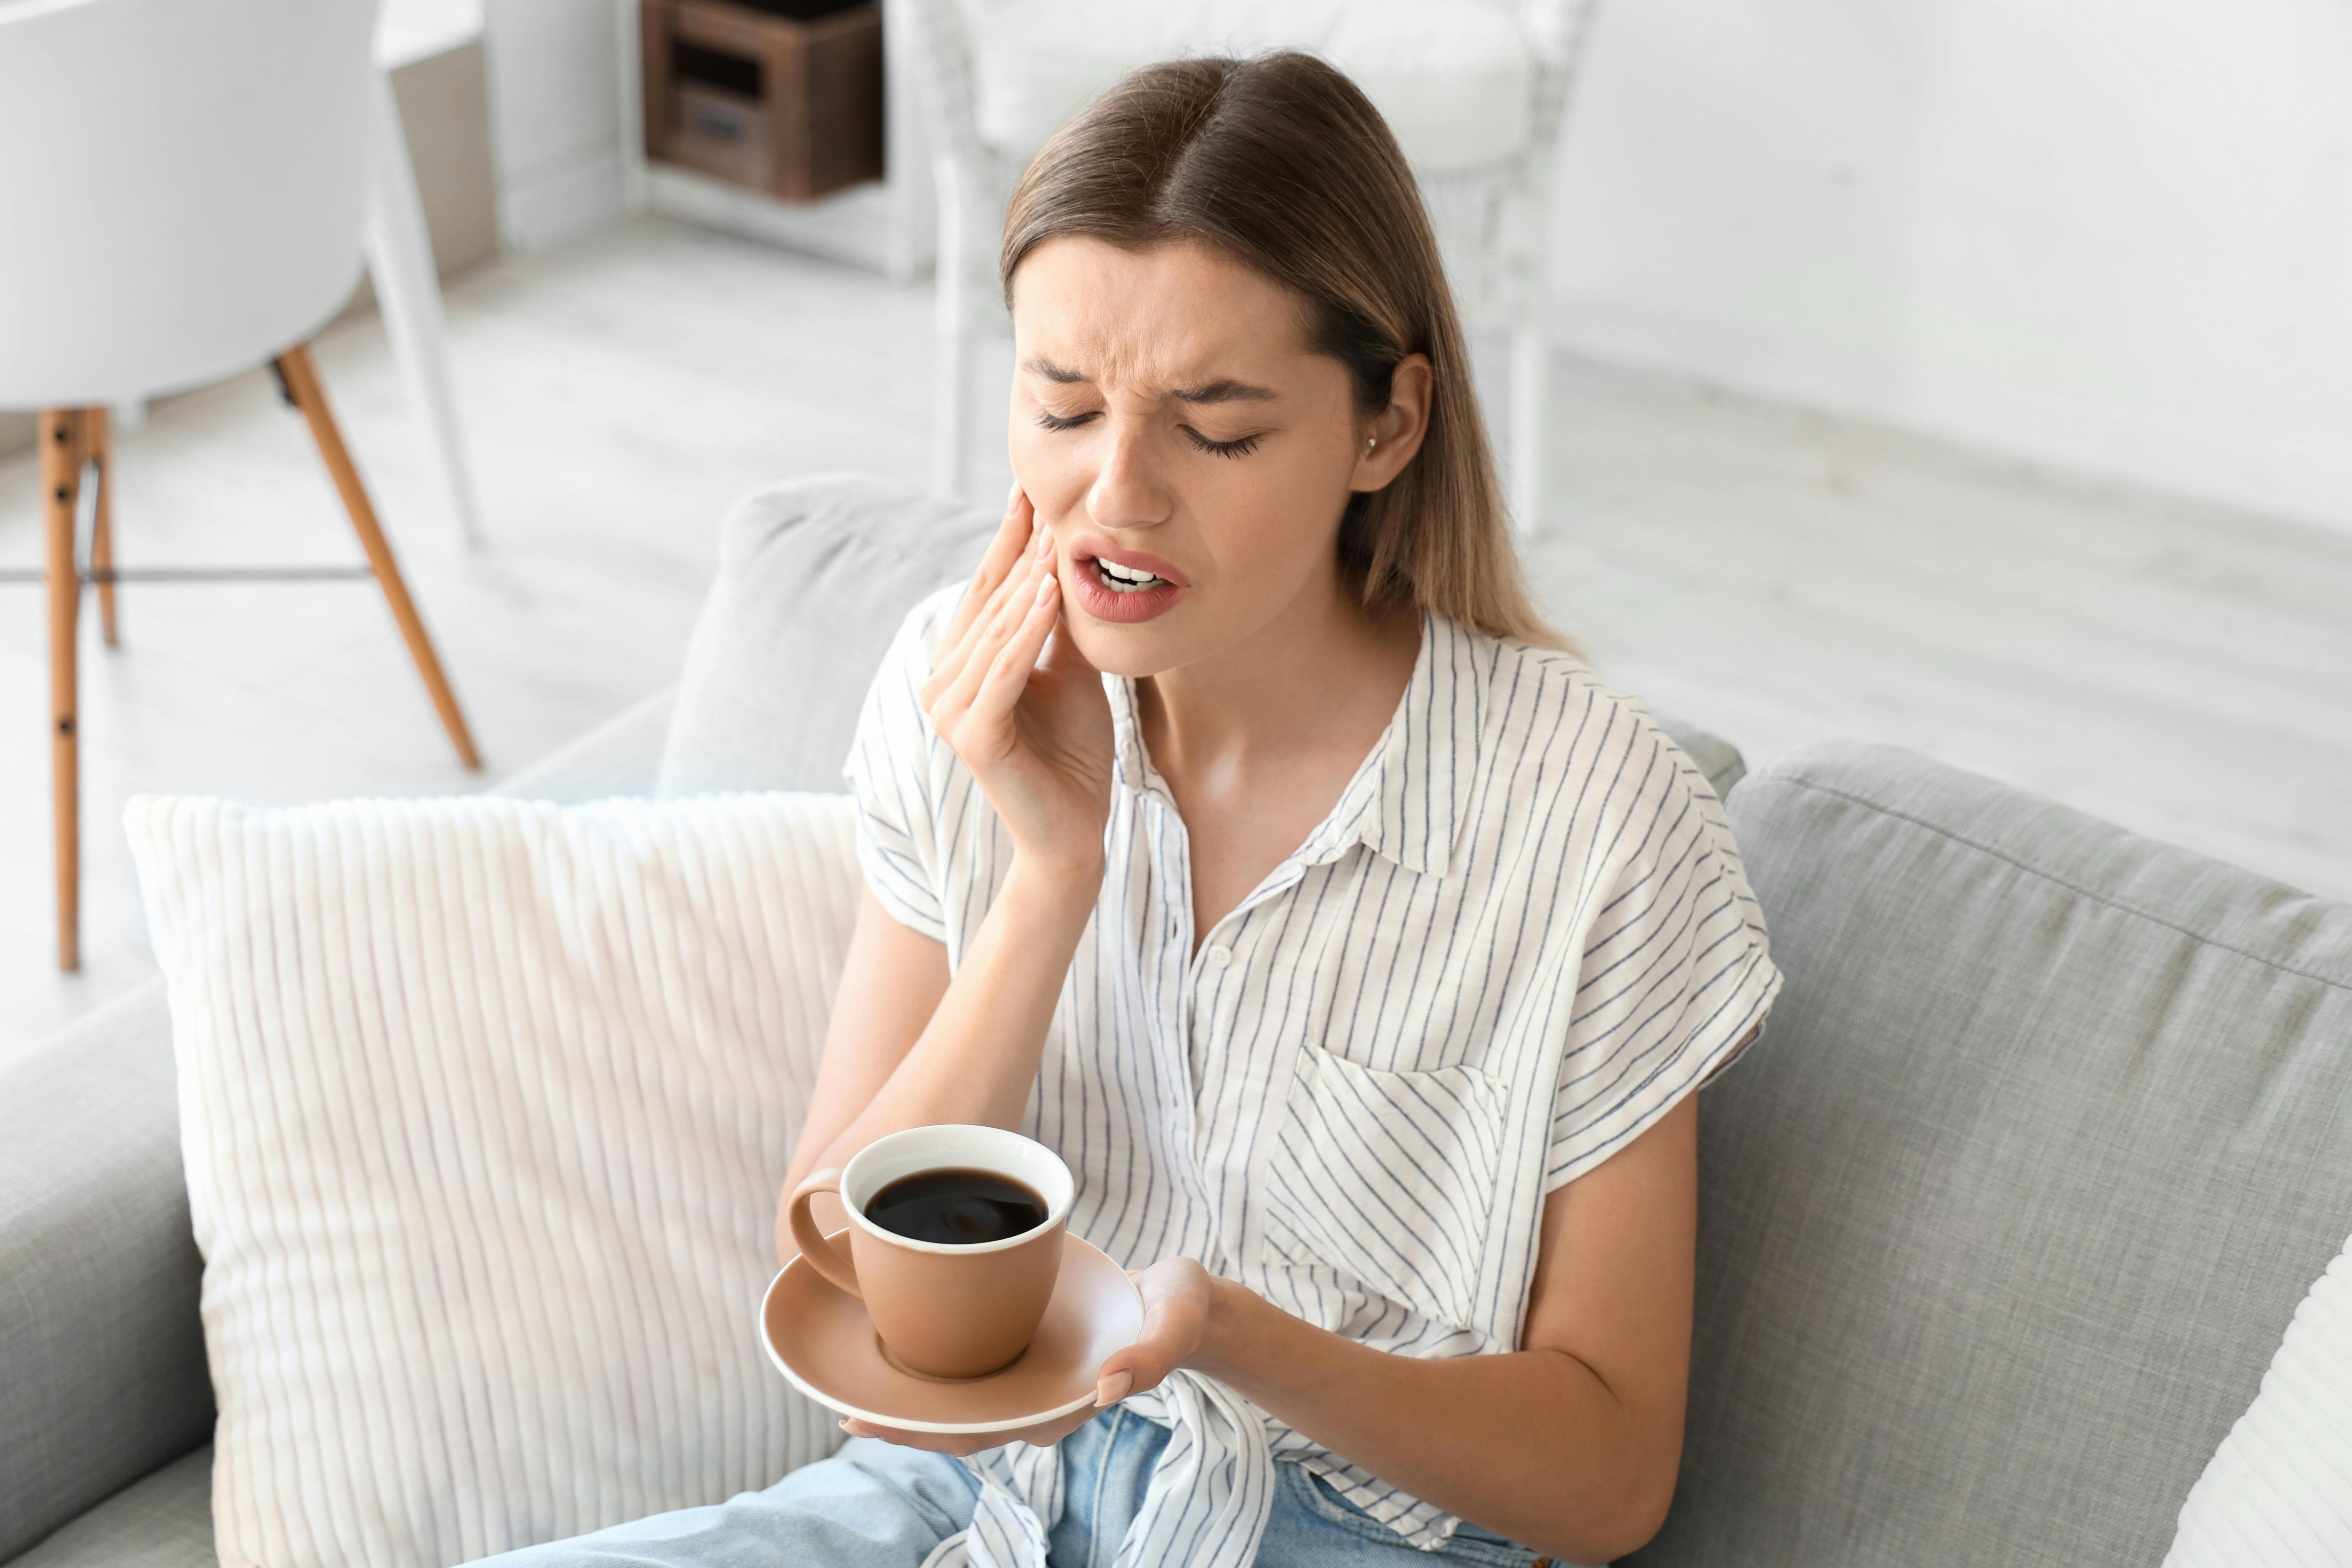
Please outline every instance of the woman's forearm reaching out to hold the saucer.
[{"label": "woman's forearm reaching out to hold the saucer", "polygon": [[1573,1563],[1639,1547],[1672,1495],[1679,1420],[1644,1422],[1559,1349],[1397,1356],[1221,1279],[1188,1366],[1390,1486]]}]

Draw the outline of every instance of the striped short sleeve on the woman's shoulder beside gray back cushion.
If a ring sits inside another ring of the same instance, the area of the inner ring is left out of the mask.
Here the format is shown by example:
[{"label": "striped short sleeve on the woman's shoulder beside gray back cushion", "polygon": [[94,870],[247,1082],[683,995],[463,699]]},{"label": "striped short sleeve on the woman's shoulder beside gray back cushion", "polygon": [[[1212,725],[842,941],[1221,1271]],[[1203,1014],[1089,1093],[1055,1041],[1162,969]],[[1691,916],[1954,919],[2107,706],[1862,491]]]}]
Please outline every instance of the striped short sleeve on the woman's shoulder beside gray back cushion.
[{"label": "striped short sleeve on the woman's shoulder beside gray back cushion", "polygon": [[1639,1138],[1731,1065],[1764,1025],[1780,971],[1724,806],[1677,748],[1639,849],[1585,933],[1543,1187]]}]

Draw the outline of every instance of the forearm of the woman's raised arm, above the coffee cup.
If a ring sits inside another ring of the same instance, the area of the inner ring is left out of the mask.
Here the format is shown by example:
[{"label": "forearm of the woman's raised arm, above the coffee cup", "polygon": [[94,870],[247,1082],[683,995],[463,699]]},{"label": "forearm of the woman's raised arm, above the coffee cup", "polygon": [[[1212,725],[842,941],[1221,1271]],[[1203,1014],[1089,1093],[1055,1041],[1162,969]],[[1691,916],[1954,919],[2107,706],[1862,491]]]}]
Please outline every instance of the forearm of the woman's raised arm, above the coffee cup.
[{"label": "forearm of the woman's raised arm, above the coffee cup", "polygon": [[811,1140],[793,1161],[795,1178],[910,1126],[1018,1126],[1098,886],[1098,867],[1047,872],[1016,860],[922,1034],[844,1126],[809,1128],[823,1145]]}]

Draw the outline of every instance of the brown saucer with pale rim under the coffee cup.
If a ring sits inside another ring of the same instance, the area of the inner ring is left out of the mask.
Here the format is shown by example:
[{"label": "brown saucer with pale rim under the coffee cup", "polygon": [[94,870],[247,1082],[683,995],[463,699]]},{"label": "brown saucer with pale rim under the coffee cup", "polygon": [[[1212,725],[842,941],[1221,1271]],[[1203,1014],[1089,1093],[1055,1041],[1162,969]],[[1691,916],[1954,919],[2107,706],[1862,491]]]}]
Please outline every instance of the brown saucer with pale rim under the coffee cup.
[{"label": "brown saucer with pale rim under the coffee cup", "polygon": [[[844,1232],[835,1232],[844,1234]],[[938,1380],[898,1371],[866,1302],[793,1258],[760,1302],[767,1359],[821,1406],[903,1432],[1014,1432],[1094,1403],[1103,1356],[1143,1328],[1143,1293],[1127,1269],[1073,1234],[1037,1338],[985,1378]]]}]

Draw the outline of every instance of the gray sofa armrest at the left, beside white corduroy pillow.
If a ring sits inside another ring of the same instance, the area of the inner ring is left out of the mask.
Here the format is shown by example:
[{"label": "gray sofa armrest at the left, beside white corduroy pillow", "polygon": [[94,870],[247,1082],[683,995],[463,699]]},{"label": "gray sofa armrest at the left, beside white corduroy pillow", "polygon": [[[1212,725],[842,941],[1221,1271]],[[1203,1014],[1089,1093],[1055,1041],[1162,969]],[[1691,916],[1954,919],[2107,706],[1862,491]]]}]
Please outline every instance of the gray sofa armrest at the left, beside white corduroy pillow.
[{"label": "gray sofa armrest at the left, beside white corduroy pillow", "polygon": [[162,983],[0,1070],[0,1561],[212,1436]]}]

